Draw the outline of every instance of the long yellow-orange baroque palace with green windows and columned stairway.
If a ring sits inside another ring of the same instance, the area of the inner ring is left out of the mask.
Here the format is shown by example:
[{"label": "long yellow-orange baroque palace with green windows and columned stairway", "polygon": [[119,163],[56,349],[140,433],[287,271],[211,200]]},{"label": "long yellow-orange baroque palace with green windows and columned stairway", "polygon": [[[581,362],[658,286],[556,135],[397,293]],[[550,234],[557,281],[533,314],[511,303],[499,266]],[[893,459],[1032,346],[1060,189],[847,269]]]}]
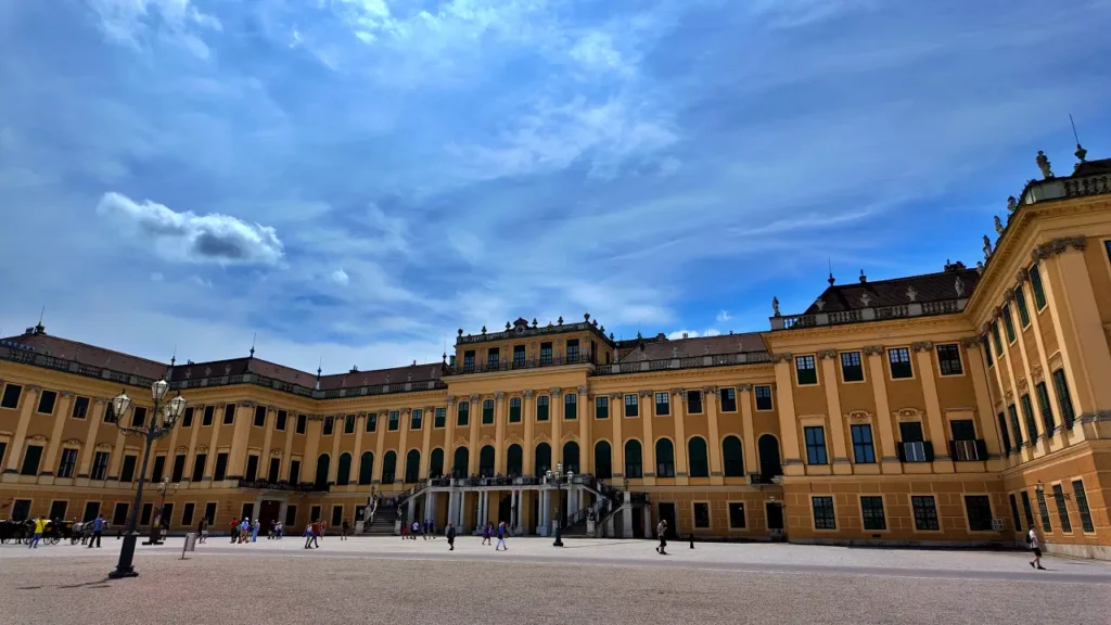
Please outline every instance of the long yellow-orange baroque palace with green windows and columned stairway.
[{"label": "long yellow-orange baroque palace with green windows and columned stairway", "polygon": [[[167,376],[189,408],[147,478],[172,485],[172,530],[334,525],[373,492],[439,527],[547,534],[592,512],[600,534],[667,518],[682,536],[975,545],[1033,525],[1050,550],[1111,559],[1111,160],[1078,157],[1067,177],[1039,158],[975,268],[831,277],[762,333],[615,341],[589,315],[518,319],[460,330],[442,363],[322,376],[253,349],[166,365],[40,324],[0,344],[0,515],[123,524],[142,442],[108,399],[149,406]],[[569,489],[536,477],[557,464]]]}]

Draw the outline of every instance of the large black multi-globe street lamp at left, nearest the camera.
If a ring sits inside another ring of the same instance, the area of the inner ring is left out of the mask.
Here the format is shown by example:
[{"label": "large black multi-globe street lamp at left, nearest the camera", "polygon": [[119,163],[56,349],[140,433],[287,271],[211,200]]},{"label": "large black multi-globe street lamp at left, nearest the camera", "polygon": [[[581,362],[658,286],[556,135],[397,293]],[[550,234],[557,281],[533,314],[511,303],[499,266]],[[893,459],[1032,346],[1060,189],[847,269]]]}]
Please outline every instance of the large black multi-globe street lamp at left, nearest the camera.
[{"label": "large black multi-globe street lamp at left, nearest the camera", "polygon": [[[128,524],[128,533],[123,536],[123,547],[120,549],[120,560],[116,564],[108,576],[112,579],[120,577],[138,577],[132,562],[134,560],[136,542],[139,538],[139,508],[142,506],[142,485],[147,477],[147,464],[150,462],[151,445],[159,438],[170,434],[173,424],[186,413],[186,398],[179,393],[173,399],[166,401],[166,394],[170,389],[170,383],[160,379],[150,385],[150,396],[154,400],[154,408],[150,414],[150,421],[131,426],[123,425],[123,416],[131,407],[131,398],[127,393],[121,391],[112,399],[112,413],[116,415],[116,427],[124,436],[134,436],[146,442],[142,453],[142,470],[139,472],[139,485],[136,487],[136,503],[131,508],[131,522]],[[163,504],[166,502],[163,490]]]}]

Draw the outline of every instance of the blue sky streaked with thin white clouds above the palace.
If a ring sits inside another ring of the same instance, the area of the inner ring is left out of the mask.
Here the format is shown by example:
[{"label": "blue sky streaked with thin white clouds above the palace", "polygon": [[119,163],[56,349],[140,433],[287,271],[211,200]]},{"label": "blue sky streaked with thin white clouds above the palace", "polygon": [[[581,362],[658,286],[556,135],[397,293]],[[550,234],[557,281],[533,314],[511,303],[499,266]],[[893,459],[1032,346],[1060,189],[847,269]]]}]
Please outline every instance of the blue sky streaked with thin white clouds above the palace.
[{"label": "blue sky streaked with thin white clouds above the palace", "polygon": [[0,0],[0,336],[326,373],[769,328],[1111,156],[1111,1]]}]

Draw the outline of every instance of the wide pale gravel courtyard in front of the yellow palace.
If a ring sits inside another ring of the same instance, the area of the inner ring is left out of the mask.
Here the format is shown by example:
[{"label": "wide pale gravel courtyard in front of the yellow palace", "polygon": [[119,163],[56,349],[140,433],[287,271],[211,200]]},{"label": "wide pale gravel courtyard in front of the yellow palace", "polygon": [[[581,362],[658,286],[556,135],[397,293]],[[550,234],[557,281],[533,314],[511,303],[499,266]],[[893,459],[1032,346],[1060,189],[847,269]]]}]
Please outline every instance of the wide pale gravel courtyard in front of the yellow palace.
[{"label": "wide pale gravel courtyard in front of the yellow palace", "polygon": [[1021,553],[518,538],[330,536],[101,549],[0,547],[11,623],[1108,623],[1111,565]]}]

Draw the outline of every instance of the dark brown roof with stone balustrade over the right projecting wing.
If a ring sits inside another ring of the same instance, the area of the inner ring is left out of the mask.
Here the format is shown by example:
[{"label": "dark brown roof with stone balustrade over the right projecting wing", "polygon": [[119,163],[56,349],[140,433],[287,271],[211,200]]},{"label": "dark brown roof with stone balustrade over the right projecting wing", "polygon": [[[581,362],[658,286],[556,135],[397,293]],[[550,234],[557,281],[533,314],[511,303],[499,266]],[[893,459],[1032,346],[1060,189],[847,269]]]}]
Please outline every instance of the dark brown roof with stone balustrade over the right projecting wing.
[{"label": "dark brown roof with stone balustrade over the right projecting wing", "polygon": [[819,306],[818,300],[815,300],[814,304],[810,305],[810,308],[807,308],[804,315],[899,306],[910,304],[912,301],[911,294],[914,296],[913,301],[918,302],[959,299],[958,278],[963,284],[964,295],[961,297],[967,298],[972,295],[972,289],[979,281],[980,274],[975,269],[961,268],[874,282],[833,285],[822,291],[818,298],[824,305]]}]

